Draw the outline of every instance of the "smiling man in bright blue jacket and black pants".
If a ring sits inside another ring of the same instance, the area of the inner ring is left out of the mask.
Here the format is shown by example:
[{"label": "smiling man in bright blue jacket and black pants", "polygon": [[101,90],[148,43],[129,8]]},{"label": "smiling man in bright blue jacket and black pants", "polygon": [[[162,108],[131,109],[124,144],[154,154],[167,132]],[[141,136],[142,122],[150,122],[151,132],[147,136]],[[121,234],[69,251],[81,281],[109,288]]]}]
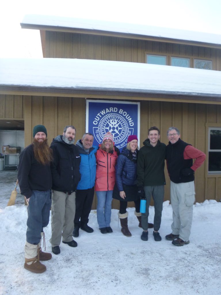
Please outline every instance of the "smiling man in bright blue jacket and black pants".
[{"label": "smiling man in bright blue jacket and black pants", "polygon": [[76,210],[74,220],[73,236],[79,236],[79,229],[85,232],[93,232],[93,228],[88,226],[88,216],[94,197],[94,184],[96,176],[96,157],[97,147],[93,146],[94,137],[91,133],[85,133],[82,139],[78,140],[76,147],[81,155],[80,174],[81,180],[77,185],[76,191]]}]

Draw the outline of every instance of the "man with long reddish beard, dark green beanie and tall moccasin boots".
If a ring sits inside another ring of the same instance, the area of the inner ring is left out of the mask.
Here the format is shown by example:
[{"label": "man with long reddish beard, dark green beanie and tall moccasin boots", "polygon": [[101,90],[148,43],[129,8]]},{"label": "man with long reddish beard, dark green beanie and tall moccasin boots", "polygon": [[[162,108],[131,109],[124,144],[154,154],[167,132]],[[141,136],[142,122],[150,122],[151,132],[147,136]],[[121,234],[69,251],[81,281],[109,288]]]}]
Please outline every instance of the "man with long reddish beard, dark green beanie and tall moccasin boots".
[{"label": "man with long reddish beard, dark green beanie and tall moccasin boots", "polygon": [[24,268],[33,273],[43,273],[46,266],[39,260],[50,260],[51,253],[41,250],[44,241],[43,227],[49,223],[52,176],[52,152],[47,143],[47,130],[43,125],[33,128],[34,141],[19,157],[18,181],[21,194],[28,207]]}]

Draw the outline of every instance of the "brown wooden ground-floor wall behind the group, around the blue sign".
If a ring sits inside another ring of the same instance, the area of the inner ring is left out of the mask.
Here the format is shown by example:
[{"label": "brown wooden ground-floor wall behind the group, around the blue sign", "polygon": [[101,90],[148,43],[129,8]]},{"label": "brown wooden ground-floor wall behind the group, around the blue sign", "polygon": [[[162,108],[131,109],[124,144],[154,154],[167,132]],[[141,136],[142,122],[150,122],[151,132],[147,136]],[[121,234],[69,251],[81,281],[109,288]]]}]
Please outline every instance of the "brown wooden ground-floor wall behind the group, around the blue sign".
[{"label": "brown wooden ground-floor wall behind the group, around the blue sign", "polygon": [[[76,141],[85,133],[85,99],[73,97],[24,96],[25,100],[25,146],[32,141],[32,129],[36,124],[47,128],[48,141],[61,135],[66,125],[76,127]],[[151,126],[161,130],[161,141],[168,143],[166,131],[170,126],[179,128],[181,138],[207,153],[207,126],[221,124],[221,105],[194,103],[141,101],[140,146],[147,138]],[[195,173],[196,200],[221,198],[221,175],[207,174],[207,162]],[[169,177],[165,169],[165,200],[170,199]],[[94,198],[93,209],[96,206]],[[132,206],[134,206],[132,204]],[[118,201],[113,201],[118,208]]]}]

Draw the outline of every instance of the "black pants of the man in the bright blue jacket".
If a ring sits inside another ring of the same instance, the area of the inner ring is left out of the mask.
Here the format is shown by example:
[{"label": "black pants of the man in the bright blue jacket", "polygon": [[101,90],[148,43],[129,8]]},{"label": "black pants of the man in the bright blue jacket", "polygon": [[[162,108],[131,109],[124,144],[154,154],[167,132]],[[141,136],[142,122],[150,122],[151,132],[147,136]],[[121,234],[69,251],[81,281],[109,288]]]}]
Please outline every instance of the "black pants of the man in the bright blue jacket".
[{"label": "black pants of the man in the bright blue jacket", "polygon": [[75,210],[75,226],[81,226],[81,224],[87,224],[89,219],[91,206],[94,198],[94,186],[92,189],[77,189],[76,190],[76,210]]}]

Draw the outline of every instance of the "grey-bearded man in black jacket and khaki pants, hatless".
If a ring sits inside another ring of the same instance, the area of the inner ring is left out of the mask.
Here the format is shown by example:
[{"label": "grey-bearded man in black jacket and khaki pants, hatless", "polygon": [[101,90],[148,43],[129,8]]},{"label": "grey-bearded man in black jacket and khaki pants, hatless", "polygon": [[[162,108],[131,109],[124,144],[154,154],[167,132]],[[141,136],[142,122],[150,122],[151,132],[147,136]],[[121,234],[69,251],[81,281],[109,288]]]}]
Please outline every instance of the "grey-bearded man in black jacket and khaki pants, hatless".
[{"label": "grey-bearded man in black jacket and khaki pants, hatless", "polygon": [[53,139],[50,148],[53,151],[52,172],[52,208],[50,239],[52,252],[60,253],[60,242],[77,247],[72,238],[75,218],[75,191],[80,181],[80,155],[74,145],[76,129],[69,125],[63,135]]}]

